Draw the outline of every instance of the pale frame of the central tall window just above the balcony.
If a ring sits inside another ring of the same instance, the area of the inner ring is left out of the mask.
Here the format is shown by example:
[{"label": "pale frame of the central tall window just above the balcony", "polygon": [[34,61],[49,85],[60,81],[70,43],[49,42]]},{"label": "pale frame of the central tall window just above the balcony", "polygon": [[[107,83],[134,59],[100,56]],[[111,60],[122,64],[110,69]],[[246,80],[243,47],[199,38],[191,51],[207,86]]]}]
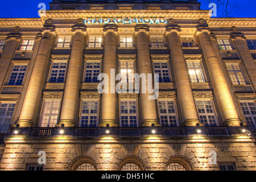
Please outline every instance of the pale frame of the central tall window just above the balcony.
[{"label": "pale frame of the central tall window just above the balcony", "polygon": [[[130,104],[127,105],[127,113],[125,113],[123,115],[122,113],[122,102],[135,102],[135,110],[136,110],[136,114],[134,113],[129,113],[129,107],[130,107]],[[138,113],[138,100],[137,99],[130,99],[130,98],[122,98],[119,100],[119,123],[120,123],[120,127],[139,127],[139,113]],[[126,117],[127,116],[127,126],[123,126],[123,123],[122,123],[122,116]],[[136,117],[136,126],[131,126],[131,122],[130,122],[130,117]]]}]

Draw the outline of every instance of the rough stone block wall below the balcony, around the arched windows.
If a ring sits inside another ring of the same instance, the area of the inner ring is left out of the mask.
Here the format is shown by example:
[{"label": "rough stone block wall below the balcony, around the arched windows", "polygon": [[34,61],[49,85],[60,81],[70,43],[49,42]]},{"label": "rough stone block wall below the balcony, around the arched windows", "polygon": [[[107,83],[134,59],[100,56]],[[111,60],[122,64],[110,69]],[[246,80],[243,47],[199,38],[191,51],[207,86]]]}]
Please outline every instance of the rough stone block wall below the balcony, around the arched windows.
[{"label": "rough stone block wall below the balcony, around the arched windows", "polygon": [[[237,171],[256,171],[253,143],[189,144],[6,144],[1,170],[26,170],[38,164],[39,151],[46,152],[44,170],[70,170],[79,159],[90,159],[97,170],[119,170],[124,159],[141,162],[144,170],[167,169],[170,160],[183,161],[192,170],[219,170],[218,164],[235,164]],[[210,165],[210,151],[217,164]]]}]

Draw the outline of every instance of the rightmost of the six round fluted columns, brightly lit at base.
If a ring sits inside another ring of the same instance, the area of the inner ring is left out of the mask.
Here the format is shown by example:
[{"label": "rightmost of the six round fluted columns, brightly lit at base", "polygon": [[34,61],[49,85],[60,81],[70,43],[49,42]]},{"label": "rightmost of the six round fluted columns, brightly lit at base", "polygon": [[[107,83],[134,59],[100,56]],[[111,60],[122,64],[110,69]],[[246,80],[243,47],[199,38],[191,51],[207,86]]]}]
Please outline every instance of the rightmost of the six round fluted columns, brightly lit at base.
[{"label": "rightmost of the six round fluted columns, brightly lit at base", "polygon": [[220,60],[218,60],[212,40],[209,36],[210,28],[199,28],[198,31],[210,81],[213,84],[214,93],[220,101],[221,111],[224,113],[224,125],[240,126],[241,121],[238,117],[228,84],[225,80],[224,72],[221,69]]}]

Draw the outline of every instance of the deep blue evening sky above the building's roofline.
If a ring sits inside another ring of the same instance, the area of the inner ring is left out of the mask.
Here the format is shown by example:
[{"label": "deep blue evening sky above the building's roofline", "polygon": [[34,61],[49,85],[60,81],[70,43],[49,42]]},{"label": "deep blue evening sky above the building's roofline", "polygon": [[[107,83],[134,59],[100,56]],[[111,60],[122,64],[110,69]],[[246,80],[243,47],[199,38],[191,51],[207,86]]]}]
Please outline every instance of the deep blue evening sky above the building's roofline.
[{"label": "deep blue evening sky above the building's roofline", "polygon": [[[199,0],[203,2],[204,0]],[[45,3],[47,10],[48,3],[52,0],[1,0],[0,2],[0,18],[39,18],[39,3]],[[255,0],[241,0],[244,9],[238,9],[236,13],[231,13],[231,17],[236,18],[256,18],[256,2]],[[201,9],[209,10],[209,8],[201,6]],[[218,15],[218,13],[217,13]]]}]

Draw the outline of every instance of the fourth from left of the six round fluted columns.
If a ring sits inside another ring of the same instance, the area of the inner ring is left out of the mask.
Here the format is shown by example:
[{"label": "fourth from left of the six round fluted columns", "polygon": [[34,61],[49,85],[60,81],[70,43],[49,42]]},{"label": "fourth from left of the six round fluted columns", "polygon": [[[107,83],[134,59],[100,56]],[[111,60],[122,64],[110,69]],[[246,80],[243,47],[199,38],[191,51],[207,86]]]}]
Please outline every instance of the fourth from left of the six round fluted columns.
[{"label": "fourth from left of the six round fluted columns", "polygon": [[[152,61],[150,57],[150,47],[148,41],[148,28],[135,28],[135,36],[137,36],[137,49],[138,49],[138,71],[139,75],[152,74],[154,76],[152,70]],[[154,78],[152,78],[154,80]],[[146,78],[146,85],[150,84],[148,82],[148,78]],[[154,88],[153,86],[151,88]],[[152,94],[146,92],[142,92],[142,82],[140,82],[140,101],[141,101],[141,113],[142,113],[142,126],[151,126],[155,124],[155,126],[159,126],[158,122],[158,114],[157,114],[157,106],[156,100],[150,100],[150,96]]]}]

